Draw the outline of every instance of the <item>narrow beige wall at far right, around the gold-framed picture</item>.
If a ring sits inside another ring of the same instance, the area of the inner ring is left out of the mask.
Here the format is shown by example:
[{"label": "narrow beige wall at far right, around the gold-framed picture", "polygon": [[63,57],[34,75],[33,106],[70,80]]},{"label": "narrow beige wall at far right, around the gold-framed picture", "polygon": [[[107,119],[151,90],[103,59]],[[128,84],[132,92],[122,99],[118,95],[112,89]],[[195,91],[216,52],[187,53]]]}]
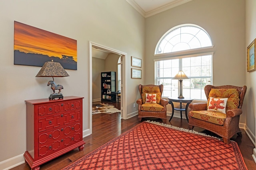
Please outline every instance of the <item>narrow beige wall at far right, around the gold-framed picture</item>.
[{"label": "narrow beige wall at far right, around the gold-framed picture", "polygon": [[[256,38],[256,1],[246,0],[246,33],[245,33],[245,46],[248,45]],[[246,56],[246,53],[245,53]],[[246,57],[245,57],[246,58]],[[246,63],[247,64],[247,63]],[[246,65],[245,64],[245,65]],[[247,66],[247,65],[246,65]],[[251,139],[255,141],[255,121],[256,121],[256,72],[246,72],[246,85],[248,87],[246,94],[246,131],[251,135]],[[256,162],[256,149],[254,149],[254,161]]]}]

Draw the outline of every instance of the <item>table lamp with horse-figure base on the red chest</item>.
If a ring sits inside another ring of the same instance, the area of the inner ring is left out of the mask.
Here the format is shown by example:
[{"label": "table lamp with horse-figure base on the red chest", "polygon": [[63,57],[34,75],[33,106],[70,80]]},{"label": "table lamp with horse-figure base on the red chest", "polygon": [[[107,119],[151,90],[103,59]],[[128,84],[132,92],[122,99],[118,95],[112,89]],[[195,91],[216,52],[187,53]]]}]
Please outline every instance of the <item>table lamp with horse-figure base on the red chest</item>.
[{"label": "table lamp with horse-figure base on the red chest", "polygon": [[[53,91],[53,94],[50,94],[49,99],[54,100],[54,98],[62,98],[63,95],[60,93],[63,89],[63,86],[60,84],[56,84],[54,82],[54,77],[66,77],[69,76],[66,70],[62,67],[60,63],[54,62],[54,61],[47,61],[42,66],[41,70],[38,72],[36,77],[52,77],[52,80],[50,80],[47,84],[47,86],[51,85],[51,89]],[[59,90],[58,93],[55,93],[55,90]]]}]

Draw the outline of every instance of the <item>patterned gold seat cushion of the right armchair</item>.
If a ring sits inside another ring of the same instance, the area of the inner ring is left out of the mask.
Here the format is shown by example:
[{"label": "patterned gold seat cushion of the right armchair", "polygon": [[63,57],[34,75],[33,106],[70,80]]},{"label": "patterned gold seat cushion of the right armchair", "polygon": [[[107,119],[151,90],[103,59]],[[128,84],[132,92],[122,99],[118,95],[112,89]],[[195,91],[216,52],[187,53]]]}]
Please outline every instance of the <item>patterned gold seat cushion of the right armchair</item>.
[{"label": "patterned gold seat cushion of the right armchair", "polygon": [[191,111],[190,116],[202,121],[214,123],[216,125],[223,125],[224,121],[226,120],[226,114],[217,111]]}]

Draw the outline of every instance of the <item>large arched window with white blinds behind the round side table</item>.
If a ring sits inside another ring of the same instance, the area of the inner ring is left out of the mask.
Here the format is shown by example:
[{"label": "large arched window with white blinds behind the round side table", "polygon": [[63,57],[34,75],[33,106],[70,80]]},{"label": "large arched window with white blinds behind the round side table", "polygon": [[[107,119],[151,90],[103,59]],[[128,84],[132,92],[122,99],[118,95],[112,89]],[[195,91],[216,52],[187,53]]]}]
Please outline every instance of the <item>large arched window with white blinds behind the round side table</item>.
[{"label": "large arched window with white blinds behind the round side table", "polygon": [[155,84],[164,85],[163,97],[179,96],[179,82],[172,78],[182,70],[190,78],[182,81],[183,96],[206,100],[204,86],[212,84],[212,47],[208,33],[194,24],[178,25],[161,37],[154,62]]}]

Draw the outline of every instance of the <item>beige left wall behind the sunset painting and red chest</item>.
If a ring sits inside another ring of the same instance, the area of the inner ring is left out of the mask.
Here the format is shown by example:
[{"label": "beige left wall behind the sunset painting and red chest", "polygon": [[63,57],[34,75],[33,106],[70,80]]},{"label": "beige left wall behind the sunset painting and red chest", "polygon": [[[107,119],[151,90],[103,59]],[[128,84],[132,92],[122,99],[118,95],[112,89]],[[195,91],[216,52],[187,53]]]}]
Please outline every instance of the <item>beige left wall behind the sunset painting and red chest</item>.
[{"label": "beige left wall behind the sunset painting and red chest", "polygon": [[[144,55],[144,17],[125,0],[0,0],[0,169],[24,162],[26,151],[26,105],[24,100],[48,98],[49,78],[36,78],[40,67],[14,65],[14,21],[77,40],[78,70],[69,77],[54,78],[64,96],[82,96],[83,131],[90,132],[89,42],[127,53],[127,82],[130,56]],[[132,81],[134,82],[134,81]],[[127,90],[127,112],[138,94],[138,83]],[[10,159],[10,160],[8,160]],[[4,161],[4,162],[2,162]]]}]

